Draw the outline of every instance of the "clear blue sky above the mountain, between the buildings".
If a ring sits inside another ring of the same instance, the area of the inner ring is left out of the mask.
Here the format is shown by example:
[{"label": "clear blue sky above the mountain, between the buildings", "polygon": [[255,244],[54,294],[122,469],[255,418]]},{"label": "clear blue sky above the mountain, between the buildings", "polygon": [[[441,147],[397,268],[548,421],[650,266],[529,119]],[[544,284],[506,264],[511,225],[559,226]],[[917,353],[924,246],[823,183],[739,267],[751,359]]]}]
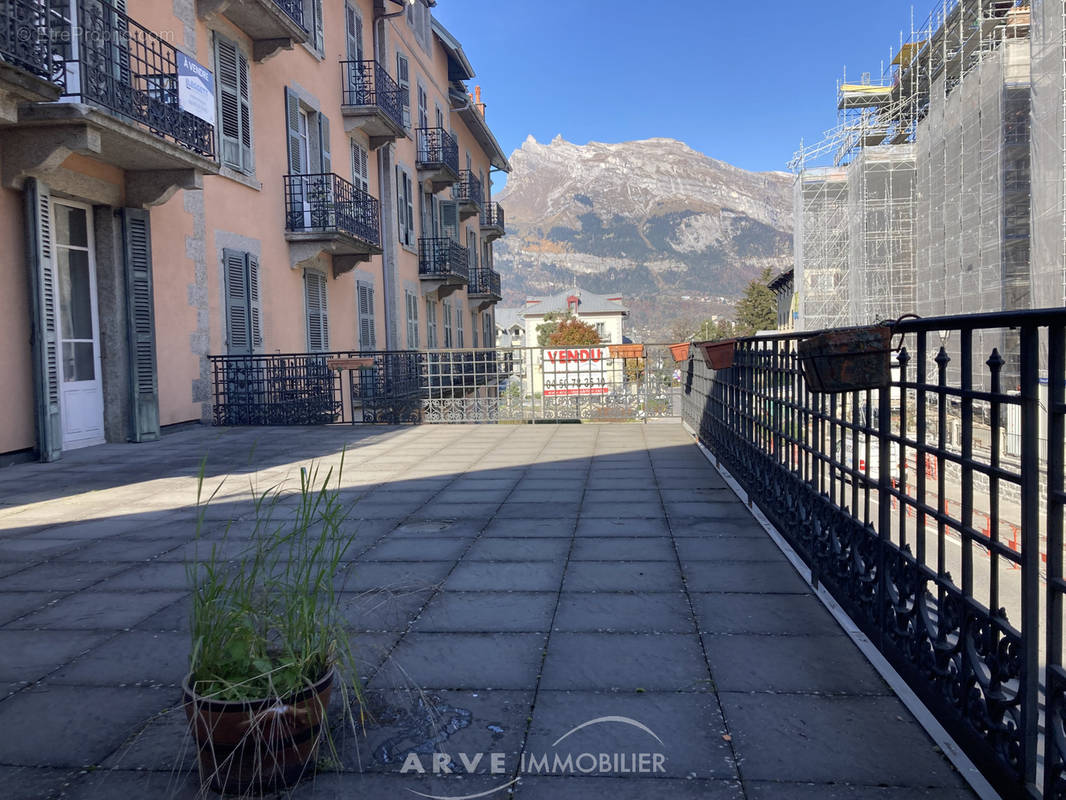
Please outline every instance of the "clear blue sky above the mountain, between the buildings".
[{"label": "clear blue sky above the mountain, between the buildings", "polygon": [[[933,5],[916,7],[924,21]],[[836,121],[836,81],[881,74],[910,30],[901,0],[438,0],[506,153],[532,133],[583,144],[680,139],[785,170]]]}]

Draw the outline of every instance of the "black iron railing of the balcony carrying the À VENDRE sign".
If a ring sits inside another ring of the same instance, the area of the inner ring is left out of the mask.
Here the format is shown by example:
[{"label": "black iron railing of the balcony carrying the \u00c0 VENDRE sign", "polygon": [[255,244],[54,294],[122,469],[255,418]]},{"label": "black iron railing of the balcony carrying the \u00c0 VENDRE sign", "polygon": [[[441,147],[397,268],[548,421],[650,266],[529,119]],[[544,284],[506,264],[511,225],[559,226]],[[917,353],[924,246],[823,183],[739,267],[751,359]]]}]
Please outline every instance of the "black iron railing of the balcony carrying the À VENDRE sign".
[{"label": "black iron railing of the balcony carrying the \u00c0 VENDRE sign", "polygon": [[178,51],[104,0],[52,4],[53,80],[64,96],[214,157],[214,129],[178,106]]}]

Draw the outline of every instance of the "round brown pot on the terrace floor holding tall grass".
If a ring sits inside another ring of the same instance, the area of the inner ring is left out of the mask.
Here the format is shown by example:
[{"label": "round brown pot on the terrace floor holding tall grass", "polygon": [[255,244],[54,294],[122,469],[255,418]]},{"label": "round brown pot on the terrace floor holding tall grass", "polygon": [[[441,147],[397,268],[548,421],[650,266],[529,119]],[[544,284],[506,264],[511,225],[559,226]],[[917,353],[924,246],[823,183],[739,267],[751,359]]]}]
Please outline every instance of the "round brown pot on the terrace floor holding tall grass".
[{"label": "round brown pot on the terrace floor holding tall grass", "polygon": [[185,677],[185,715],[200,781],[214,791],[263,795],[308,774],[323,735],[335,670],[291,698],[221,701],[196,694]]}]

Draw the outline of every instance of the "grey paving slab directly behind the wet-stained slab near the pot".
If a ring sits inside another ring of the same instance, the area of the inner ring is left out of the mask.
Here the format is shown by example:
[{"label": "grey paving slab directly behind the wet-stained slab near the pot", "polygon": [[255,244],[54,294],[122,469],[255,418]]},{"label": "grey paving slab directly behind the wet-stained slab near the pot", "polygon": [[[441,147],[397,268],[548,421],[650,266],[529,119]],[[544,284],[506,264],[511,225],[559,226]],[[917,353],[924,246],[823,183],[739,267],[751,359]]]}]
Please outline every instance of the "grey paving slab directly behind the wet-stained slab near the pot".
[{"label": "grey paving slab directly behind the wet-stained slab near the pot", "polygon": [[536,686],[545,634],[411,633],[371,689],[527,689]]}]

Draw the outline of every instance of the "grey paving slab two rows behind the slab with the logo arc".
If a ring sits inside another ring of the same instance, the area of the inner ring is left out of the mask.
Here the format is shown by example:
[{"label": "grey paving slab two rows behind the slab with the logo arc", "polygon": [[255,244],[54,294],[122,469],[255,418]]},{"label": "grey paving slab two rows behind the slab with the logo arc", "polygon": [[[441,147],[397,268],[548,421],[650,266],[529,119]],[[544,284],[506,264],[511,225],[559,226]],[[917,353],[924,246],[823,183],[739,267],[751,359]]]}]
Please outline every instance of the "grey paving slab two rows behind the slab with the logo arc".
[{"label": "grey paving slab two rows behind the slab with the logo arc", "polygon": [[[571,564],[572,566],[572,564]],[[555,630],[691,634],[689,599],[680,591],[653,593],[564,592]]]}]

